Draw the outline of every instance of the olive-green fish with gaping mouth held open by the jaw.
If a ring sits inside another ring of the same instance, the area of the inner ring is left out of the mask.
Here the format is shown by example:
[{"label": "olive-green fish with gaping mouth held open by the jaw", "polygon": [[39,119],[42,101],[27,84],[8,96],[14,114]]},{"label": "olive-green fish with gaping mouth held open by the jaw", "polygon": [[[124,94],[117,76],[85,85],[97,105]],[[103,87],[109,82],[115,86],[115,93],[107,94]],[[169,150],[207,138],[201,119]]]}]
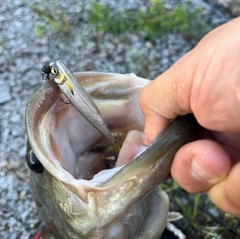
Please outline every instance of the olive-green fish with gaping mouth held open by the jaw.
[{"label": "olive-green fish with gaping mouth held open by the jaw", "polygon": [[74,104],[64,102],[55,81],[32,97],[26,110],[26,162],[45,232],[57,239],[159,238],[169,213],[169,198],[159,184],[178,149],[194,139],[195,118],[178,117],[144,147],[138,97],[149,80],[133,73],[73,75],[114,143]]}]

